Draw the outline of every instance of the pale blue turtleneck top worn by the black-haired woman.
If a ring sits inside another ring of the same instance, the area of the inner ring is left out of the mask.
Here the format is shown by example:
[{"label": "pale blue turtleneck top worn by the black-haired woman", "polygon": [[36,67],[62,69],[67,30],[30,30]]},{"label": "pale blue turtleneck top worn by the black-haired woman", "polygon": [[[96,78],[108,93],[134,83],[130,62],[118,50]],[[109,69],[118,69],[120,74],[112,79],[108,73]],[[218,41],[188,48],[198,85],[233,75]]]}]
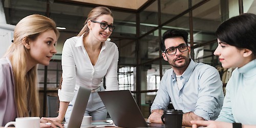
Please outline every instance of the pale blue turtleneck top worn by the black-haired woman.
[{"label": "pale blue turtleneck top worn by the black-haired woman", "polygon": [[232,72],[217,120],[256,124],[256,59]]}]

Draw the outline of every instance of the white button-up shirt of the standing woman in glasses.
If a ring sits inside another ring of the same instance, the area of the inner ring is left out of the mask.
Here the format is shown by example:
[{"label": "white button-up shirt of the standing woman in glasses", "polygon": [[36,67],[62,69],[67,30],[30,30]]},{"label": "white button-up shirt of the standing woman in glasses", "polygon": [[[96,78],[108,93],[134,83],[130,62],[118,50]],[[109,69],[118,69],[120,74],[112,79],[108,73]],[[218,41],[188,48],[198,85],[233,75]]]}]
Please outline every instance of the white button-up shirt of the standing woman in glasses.
[{"label": "white button-up shirt of the standing woman in glasses", "polygon": [[110,41],[102,44],[95,66],[83,46],[83,35],[69,38],[62,50],[62,86],[58,90],[60,101],[70,102],[74,97],[74,90],[79,86],[96,89],[102,86],[102,79],[106,78],[106,90],[118,90],[117,64],[118,48]]}]

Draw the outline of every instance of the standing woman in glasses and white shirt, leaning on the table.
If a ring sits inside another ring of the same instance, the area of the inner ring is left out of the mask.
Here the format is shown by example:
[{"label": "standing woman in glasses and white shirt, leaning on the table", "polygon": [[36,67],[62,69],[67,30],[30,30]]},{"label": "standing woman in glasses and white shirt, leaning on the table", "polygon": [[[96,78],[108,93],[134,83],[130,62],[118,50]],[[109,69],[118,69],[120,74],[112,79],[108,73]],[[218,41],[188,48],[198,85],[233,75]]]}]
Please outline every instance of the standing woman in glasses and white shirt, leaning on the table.
[{"label": "standing woman in glasses and white shirt, leaning on the table", "polygon": [[59,115],[47,119],[61,122],[65,116],[69,122],[79,86],[92,90],[84,116],[90,115],[93,120],[106,119],[107,111],[97,91],[104,91],[103,77],[106,90],[119,89],[118,48],[107,40],[115,29],[113,20],[109,8],[96,7],[88,14],[80,33],[66,40],[61,58],[62,84],[58,90]]}]

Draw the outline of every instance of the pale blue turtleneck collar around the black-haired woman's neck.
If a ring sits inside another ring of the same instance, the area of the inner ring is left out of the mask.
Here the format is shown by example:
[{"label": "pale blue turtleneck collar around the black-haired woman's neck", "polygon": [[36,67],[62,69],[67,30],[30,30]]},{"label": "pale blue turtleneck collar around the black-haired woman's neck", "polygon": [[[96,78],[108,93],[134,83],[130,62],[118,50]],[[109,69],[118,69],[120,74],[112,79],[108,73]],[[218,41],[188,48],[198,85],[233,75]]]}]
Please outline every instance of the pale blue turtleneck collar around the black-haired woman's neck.
[{"label": "pale blue turtleneck collar around the black-haired woman's neck", "polygon": [[245,78],[249,78],[255,75],[256,72],[256,59],[248,62],[241,68],[238,68],[238,72],[242,73]]}]

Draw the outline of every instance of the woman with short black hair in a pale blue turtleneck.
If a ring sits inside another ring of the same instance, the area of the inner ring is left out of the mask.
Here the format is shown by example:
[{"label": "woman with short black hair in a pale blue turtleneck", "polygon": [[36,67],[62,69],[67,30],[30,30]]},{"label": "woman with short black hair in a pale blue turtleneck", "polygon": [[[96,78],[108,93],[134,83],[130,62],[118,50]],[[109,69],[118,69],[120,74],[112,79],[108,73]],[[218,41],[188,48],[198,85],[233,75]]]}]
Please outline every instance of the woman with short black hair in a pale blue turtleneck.
[{"label": "woman with short black hair in a pale blue turtleneck", "polygon": [[241,14],[222,23],[216,31],[223,68],[236,68],[226,86],[222,110],[216,121],[191,121],[219,128],[256,127],[256,15]]}]

